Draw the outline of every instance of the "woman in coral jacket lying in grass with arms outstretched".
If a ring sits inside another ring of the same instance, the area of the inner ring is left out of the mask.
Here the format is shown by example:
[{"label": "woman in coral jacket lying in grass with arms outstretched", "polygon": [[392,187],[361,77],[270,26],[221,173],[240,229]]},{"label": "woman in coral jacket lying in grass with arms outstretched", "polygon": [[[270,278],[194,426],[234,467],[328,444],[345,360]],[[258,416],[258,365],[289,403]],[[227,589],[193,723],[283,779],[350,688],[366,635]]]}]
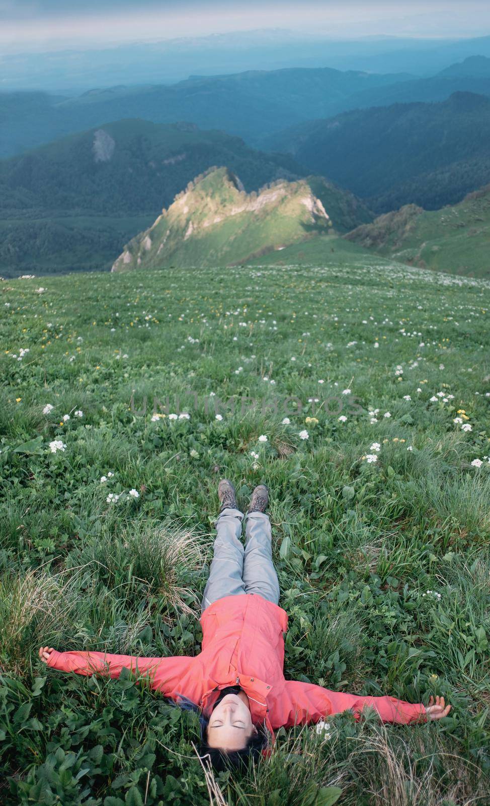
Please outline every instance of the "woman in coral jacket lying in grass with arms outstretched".
[{"label": "woman in coral jacket lying in grass with arms outstretched", "polygon": [[221,480],[220,514],[208,583],[204,589],[202,651],[196,658],[136,658],[103,652],[57,652],[47,646],[39,657],[60,671],[89,675],[121,669],[146,674],[151,687],[183,708],[200,713],[202,754],[216,768],[238,765],[274,743],[282,725],[315,724],[352,708],[359,718],[374,708],[385,722],[426,721],[446,717],[451,705],[430,697],[428,707],[395,697],[331,692],[313,683],[284,679],[287,614],[278,607],[278,577],[272,562],[267,488],[253,491],[245,516],[237,508],[233,484]]}]

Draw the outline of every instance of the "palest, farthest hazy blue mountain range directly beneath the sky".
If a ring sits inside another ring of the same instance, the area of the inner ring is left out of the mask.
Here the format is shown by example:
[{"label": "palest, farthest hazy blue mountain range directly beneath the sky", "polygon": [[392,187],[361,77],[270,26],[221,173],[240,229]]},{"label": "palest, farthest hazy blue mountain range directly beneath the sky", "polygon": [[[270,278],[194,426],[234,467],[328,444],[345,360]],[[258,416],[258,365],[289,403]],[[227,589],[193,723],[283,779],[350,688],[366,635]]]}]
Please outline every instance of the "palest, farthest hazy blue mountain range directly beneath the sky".
[{"label": "palest, farthest hazy blue mountain range directly beneath the sky", "polygon": [[[19,52],[2,47],[2,85],[8,90],[45,89],[79,94],[94,86],[183,81],[190,74],[224,75],[290,67],[434,75],[479,53],[490,56],[490,36],[446,39],[426,35],[364,35],[348,40],[281,27],[178,39],[125,42],[89,49]],[[162,78],[164,77],[164,78]]]}]

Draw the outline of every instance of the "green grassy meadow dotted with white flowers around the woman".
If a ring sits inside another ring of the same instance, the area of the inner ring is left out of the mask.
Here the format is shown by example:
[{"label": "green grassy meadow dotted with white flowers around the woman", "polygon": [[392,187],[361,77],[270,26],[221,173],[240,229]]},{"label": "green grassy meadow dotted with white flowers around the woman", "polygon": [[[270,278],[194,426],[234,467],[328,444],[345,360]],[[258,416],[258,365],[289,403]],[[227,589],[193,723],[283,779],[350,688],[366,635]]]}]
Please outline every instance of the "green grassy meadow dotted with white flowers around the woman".
[{"label": "green grassy meadow dotted with white flowers around the woman", "polygon": [[[489,294],[353,249],[2,282],[2,804],[488,806]],[[40,663],[199,652],[222,476],[270,487],[286,678],[447,719],[343,713],[213,778],[194,715]]]}]

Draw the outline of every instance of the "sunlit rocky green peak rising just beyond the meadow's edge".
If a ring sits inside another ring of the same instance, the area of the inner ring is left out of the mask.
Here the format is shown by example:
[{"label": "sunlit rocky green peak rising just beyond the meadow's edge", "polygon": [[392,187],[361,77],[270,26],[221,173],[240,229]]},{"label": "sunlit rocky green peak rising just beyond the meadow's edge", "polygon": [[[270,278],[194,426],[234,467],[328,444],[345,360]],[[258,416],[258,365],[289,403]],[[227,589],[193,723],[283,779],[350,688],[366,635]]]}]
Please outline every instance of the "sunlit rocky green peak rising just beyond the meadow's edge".
[{"label": "sunlit rocky green peak rising just beyond the meadow's edge", "polygon": [[321,177],[279,180],[246,193],[229,168],[211,168],[126,244],[112,271],[244,263],[371,218],[355,197]]}]

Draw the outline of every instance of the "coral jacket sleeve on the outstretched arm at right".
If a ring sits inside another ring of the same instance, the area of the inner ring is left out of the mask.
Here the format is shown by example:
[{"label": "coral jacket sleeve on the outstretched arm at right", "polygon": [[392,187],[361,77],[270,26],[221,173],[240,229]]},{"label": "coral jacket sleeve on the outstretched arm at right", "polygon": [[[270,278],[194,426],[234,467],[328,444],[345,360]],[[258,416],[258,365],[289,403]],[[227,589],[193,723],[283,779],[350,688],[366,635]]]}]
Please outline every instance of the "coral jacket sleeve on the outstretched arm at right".
[{"label": "coral jacket sleeve on the outstretched arm at right", "polygon": [[344,692],[331,692],[328,688],[315,686],[313,683],[299,683],[296,680],[286,681],[286,700],[289,713],[283,725],[308,725],[318,722],[334,713],[352,708],[356,719],[359,719],[363,708],[374,708],[383,722],[398,722],[408,725],[410,722],[426,722],[426,706],[422,703],[407,703],[396,697],[370,697]]}]

